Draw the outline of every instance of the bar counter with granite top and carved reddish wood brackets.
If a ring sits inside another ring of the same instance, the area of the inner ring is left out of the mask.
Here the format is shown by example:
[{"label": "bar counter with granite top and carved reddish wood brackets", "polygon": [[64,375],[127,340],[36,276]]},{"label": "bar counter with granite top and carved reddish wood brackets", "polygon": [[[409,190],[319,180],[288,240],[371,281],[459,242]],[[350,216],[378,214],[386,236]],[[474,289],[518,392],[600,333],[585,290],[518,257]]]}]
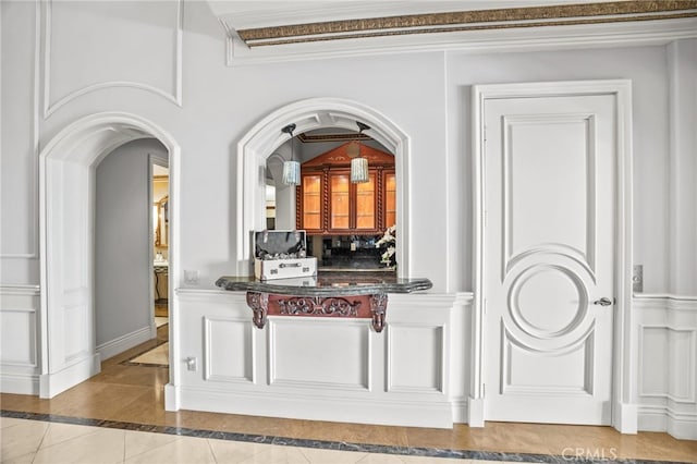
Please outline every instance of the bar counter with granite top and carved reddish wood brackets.
[{"label": "bar counter with granite top and carved reddish wood brackets", "polygon": [[254,325],[262,329],[267,316],[370,318],[376,332],[384,327],[388,293],[428,290],[423,278],[398,278],[386,272],[319,272],[313,278],[260,281],[254,277],[221,277],[216,285],[247,292]]}]

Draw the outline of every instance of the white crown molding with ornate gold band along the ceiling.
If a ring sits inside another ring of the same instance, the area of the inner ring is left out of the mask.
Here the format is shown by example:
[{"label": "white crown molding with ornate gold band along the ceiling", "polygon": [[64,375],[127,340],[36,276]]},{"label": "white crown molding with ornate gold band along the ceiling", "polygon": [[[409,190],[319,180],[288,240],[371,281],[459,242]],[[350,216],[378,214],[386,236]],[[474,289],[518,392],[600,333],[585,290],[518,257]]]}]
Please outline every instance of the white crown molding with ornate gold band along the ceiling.
[{"label": "white crown molding with ornate gold band along the ceiling", "polygon": [[[344,7],[321,2],[323,9],[317,3],[303,2],[292,14],[288,5],[271,9],[266,4],[265,19],[256,23],[249,11],[241,16],[219,15],[227,33],[228,64],[436,50],[535,51],[662,45],[697,37],[695,0],[515,3],[529,8],[510,8],[513,2],[497,0],[432,2],[430,13],[414,14],[417,7],[424,10],[431,2],[375,2],[375,7],[362,1],[344,2],[348,3]],[[452,11],[454,4],[469,10]],[[359,5],[365,8],[357,13]],[[484,9],[487,5],[489,9]],[[491,9],[493,5],[500,8]],[[448,7],[451,11],[440,11]],[[333,21],[323,21],[332,13]],[[351,14],[353,19],[348,19]]]}]

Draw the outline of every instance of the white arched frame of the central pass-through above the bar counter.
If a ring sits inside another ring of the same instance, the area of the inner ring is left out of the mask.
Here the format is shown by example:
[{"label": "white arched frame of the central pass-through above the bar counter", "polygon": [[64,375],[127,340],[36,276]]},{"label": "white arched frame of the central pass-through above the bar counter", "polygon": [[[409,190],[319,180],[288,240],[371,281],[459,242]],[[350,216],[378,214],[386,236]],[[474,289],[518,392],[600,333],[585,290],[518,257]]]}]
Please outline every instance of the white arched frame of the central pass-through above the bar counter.
[{"label": "white arched frame of the central pass-through above the bar counter", "polygon": [[247,132],[237,144],[237,273],[250,274],[250,232],[266,228],[265,170],[267,158],[288,141],[281,132],[295,123],[294,135],[322,127],[356,130],[356,121],[370,126],[368,135],[394,154],[398,190],[396,262],[400,277],[409,276],[409,138],[384,114],[356,101],[310,98],[282,107]]}]

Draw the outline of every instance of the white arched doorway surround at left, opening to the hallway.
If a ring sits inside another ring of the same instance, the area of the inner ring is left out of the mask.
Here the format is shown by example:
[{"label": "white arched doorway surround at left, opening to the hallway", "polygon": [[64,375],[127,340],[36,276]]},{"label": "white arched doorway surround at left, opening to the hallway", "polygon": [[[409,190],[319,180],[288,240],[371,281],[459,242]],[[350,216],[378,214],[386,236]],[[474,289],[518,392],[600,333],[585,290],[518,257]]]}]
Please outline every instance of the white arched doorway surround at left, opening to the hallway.
[{"label": "white arched doorway surround at left, opening to the hallway", "polygon": [[[99,373],[94,323],[95,167],[117,147],[138,138],[157,138],[170,155],[170,249],[176,256],[181,150],[167,132],[133,114],[96,113],[62,130],[39,155],[41,398],[52,398]],[[176,261],[170,280],[174,276]],[[176,323],[170,320],[170,333]],[[175,344],[170,345],[170,358],[175,351]],[[170,369],[171,381],[175,376]]]}]

